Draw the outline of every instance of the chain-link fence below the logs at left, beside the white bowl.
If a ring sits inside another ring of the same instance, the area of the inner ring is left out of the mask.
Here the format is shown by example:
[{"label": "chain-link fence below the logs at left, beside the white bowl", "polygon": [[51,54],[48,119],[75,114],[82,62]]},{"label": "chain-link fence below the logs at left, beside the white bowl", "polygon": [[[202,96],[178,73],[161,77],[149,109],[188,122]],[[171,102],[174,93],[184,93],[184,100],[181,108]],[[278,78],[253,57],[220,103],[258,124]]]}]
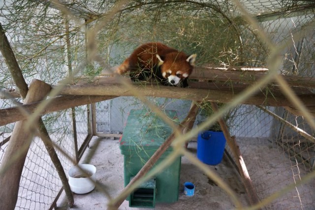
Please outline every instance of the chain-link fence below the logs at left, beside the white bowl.
[{"label": "chain-link fence below the logs at left, beside the white bowl", "polygon": [[[65,156],[63,152],[57,150],[64,171],[68,171],[73,162],[76,162],[78,150],[75,150],[75,142],[80,149],[88,137],[87,106],[75,108],[75,119],[76,128],[74,130],[71,109],[43,116],[45,126],[54,144],[63,151],[67,151],[67,156]],[[2,159],[8,144],[5,139],[10,137],[12,129],[8,125],[1,126],[0,129],[0,142],[3,143],[0,150]],[[32,141],[26,157],[16,209],[49,209],[62,186],[45,145],[36,137]]]}]

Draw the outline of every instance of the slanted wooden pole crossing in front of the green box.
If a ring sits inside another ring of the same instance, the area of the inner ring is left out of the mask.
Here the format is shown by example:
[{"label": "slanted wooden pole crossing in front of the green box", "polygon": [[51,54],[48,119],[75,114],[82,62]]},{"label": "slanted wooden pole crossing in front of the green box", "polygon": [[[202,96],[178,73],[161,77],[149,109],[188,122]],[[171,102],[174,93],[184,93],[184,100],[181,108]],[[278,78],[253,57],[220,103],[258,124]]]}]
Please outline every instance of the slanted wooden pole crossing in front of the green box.
[{"label": "slanted wooden pole crossing in front of the green box", "polygon": [[[192,102],[194,103],[194,102]],[[178,129],[182,130],[182,132],[184,130],[188,130],[192,128],[193,122],[196,119],[196,116],[198,114],[198,110],[199,107],[197,104],[192,104],[192,106],[190,107],[189,113],[187,115],[187,117],[185,118],[185,120],[182,121],[181,124],[178,125]],[[137,180],[141,179],[144,175],[146,175],[149,170],[152,168],[152,166],[154,166],[154,164],[158,161],[158,159],[160,158],[160,156],[167,150],[167,148],[169,148],[169,146],[172,144],[173,140],[176,137],[176,132],[173,132],[166,140],[165,142],[158,148],[158,150],[156,150],[156,152],[150,157],[150,159],[146,162],[146,164],[142,167],[142,169],[137,173],[137,175],[130,180],[130,182],[127,184],[127,186],[122,190],[121,193],[123,193],[124,191],[126,191],[128,188],[130,188],[130,186],[136,182]],[[126,197],[121,198],[119,201],[117,201],[116,203],[114,203],[112,206],[110,206],[108,208],[108,210],[111,209],[118,209],[120,207],[120,205],[122,205],[122,203],[124,202],[124,200],[126,199]]]}]

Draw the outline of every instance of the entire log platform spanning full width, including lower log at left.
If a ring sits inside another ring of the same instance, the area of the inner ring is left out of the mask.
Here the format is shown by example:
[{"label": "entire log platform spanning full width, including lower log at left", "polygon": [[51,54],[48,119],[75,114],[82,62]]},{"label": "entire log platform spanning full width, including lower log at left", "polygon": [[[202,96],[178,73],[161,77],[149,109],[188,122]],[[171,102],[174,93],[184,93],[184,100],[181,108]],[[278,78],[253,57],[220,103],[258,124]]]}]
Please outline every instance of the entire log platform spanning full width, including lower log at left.
[{"label": "entire log platform spanning full width, including lower log at left", "polygon": [[[61,97],[56,97],[49,102],[41,113],[46,114],[69,107],[95,103],[119,96],[134,96],[135,94],[229,103],[242,91],[255,85],[267,73],[268,69],[266,68],[252,67],[197,68],[189,77],[189,88],[167,87],[148,82],[132,84],[129,78],[113,77],[106,74],[94,78],[80,77],[75,78],[71,84],[66,84],[60,92],[59,96]],[[310,114],[315,117],[315,79],[298,76],[282,77],[308,108]],[[5,91],[4,94],[5,97],[18,97],[18,95],[19,93],[13,90]],[[22,105],[22,107],[32,113],[38,103]],[[289,112],[301,115],[299,110],[292,105],[291,101],[284,96],[280,87],[273,81],[241,103],[257,106],[283,106]],[[26,116],[21,114],[18,107],[0,110],[0,125],[23,119],[26,119]]]}]

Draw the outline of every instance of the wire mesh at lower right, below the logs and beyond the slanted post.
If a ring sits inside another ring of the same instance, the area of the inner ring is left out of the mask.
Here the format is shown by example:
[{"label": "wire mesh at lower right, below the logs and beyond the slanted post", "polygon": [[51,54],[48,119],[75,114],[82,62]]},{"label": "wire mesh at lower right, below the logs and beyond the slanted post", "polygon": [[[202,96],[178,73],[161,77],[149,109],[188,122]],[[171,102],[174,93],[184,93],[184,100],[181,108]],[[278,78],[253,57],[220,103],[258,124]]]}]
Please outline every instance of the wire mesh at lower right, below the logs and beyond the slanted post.
[{"label": "wire mesh at lower right, below the logs and beyond the slanted post", "polygon": [[[247,169],[260,199],[270,196],[312,172],[313,167],[309,162],[314,159],[314,143],[260,108],[241,106],[238,109],[240,113],[247,114],[240,115],[237,118],[238,126],[232,126],[234,129],[231,130],[234,130],[232,134],[236,135],[244,161],[249,163]],[[278,115],[288,116],[284,109],[269,107],[268,110]],[[291,120],[288,122],[296,127],[303,127],[303,130],[310,129],[304,120],[296,124],[298,118],[291,115]],[[252,126],[247,127],[249,119],[252,119],[250,123]],[[262,131],[262,133],[254,135],[252,130]],[[314,136],[312,130],[308,130],[308,133]],[[295,190],[277,198],[264,208],[312,209],[314,189],[309,187],[310,184],[313,186],[314,183],[296,187]]]}]

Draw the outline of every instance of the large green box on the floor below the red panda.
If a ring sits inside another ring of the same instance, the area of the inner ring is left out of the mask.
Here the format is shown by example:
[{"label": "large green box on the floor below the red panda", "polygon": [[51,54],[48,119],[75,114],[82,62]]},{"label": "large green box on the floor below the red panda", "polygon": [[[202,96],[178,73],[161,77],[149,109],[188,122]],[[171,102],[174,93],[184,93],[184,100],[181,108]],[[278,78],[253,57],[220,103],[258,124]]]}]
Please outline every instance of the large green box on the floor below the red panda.
[{"label": "large green box on the floor below the red panda", "polygon": [[[169,119],[178,123],[176,111],[165,110],[164,112]],[[171,133],[171,127],[155,113],[146,110],[130,111],[123,136],[120,140],[120,149],[124,155],[125,186],[129,183],[130,178],[134,177],[140,171],[143,165]],[[157,164],[163,161],[172,150],[171,147],[168,148],[159,158]],[[180,169],[181,157],[178,157],[169,167],[155,176],[155,200],[157,203],[178,201]],[[130,200],[130,196],[128,200]],[[141,204],[137,207],[140,206]]]}]

